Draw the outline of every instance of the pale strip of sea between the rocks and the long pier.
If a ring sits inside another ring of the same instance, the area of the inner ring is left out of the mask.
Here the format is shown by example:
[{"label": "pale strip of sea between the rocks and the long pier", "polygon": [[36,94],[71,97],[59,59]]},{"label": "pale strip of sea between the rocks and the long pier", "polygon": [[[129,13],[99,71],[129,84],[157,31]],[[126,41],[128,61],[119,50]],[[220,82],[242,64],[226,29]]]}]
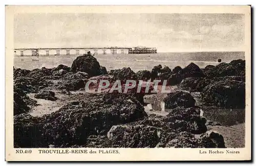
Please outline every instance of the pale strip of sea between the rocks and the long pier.
[{"label": "pale strip of sea between the rocks and the long pier", "polygon": [[[59,64],[71,66],[77,56],[81,55],[58,55],[38,57],[23,56],[14,57],[14,67],[22,69],[35,68],[53,68]],[[175,66],[182,68],[193,62],[200,68],[207,65],[219,64],[218,59],[222,62],[229,63],[236,59],[245,59],[245,52],[184,52],[184,53],[158,53],[158,54],[116,54],[116,55],[94,55],[101,66],[107,70],[130,67],[134,72],[146,69],[151,70],[154,66],[161,64],[162,67],[168,66],[173,69]]]}]

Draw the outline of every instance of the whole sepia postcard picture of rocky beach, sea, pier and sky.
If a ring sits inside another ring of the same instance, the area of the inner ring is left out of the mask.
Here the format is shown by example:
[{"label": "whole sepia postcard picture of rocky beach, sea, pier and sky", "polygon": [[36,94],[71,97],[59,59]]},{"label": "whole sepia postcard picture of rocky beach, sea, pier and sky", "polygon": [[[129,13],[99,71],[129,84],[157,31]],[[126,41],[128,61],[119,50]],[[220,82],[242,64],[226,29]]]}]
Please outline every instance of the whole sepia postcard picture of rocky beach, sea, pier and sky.
[{"label": "whole sepia postcard picture of rocky beach, sea, pier and sky", "polygon": [[12,148],[239,153],[251,64],[241,9],[13,13]]}]

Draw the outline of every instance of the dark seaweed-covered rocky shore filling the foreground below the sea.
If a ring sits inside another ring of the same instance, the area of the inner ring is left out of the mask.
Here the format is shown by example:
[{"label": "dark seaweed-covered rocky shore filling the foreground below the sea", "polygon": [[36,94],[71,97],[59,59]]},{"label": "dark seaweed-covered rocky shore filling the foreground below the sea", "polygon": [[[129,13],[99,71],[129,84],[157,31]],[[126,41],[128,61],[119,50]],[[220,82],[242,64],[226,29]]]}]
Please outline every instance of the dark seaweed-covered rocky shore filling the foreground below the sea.
[{"label": "dark seaweed-covered rocky shore filling the foreground below the sea", "polygon": [[[245,121],[244,112],[234,113],[245,108],[241,59],[205,68],[158,65],[135,73],[129,67],[108,72],[87,54],[71,67],[14,68],[13,74],[15,148],[225,148],[225,136],[210,129]],[[88,93],[84,87],[89,80],[97,80],[95,87],[100,80],[111,85],[116,80],[122,85],[126,80],[161,80],[160,85],[167,80],[167,86],[177,88],[163,95],[152,93],[153,87],[140,93],[136,87],[127,93]],[[147,110],[148,104],[154,109]],[[33,115],[48,107],[56,110]],[[216,110],[226,109],[236,123],[212,118]]]}]

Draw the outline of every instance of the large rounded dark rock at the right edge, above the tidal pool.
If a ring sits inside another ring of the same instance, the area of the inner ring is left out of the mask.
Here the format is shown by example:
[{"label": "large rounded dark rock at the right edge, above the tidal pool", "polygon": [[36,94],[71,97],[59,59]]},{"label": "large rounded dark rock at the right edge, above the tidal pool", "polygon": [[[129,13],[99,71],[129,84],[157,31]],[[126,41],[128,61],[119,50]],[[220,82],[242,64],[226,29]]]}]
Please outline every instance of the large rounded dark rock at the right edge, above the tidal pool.
[{"label": "large rounded dark rock at the right edge, above the tidal pool", "polygon": [[245,83],[236,80],[212,82],[204,88],[202,101],[224,108],[245,108]]}]

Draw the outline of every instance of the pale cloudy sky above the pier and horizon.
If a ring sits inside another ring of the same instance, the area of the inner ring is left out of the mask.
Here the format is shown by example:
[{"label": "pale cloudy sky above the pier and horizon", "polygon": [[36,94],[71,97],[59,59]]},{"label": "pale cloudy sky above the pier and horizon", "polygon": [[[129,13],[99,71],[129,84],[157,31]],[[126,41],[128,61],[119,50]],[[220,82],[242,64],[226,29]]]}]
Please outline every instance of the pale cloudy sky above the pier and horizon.
[{"label": "pale cloudy sky above the pier and horizon", "polygon": [[33,13],[14,17],[15,48],[155,47],[243,51],[243,14]]}]

